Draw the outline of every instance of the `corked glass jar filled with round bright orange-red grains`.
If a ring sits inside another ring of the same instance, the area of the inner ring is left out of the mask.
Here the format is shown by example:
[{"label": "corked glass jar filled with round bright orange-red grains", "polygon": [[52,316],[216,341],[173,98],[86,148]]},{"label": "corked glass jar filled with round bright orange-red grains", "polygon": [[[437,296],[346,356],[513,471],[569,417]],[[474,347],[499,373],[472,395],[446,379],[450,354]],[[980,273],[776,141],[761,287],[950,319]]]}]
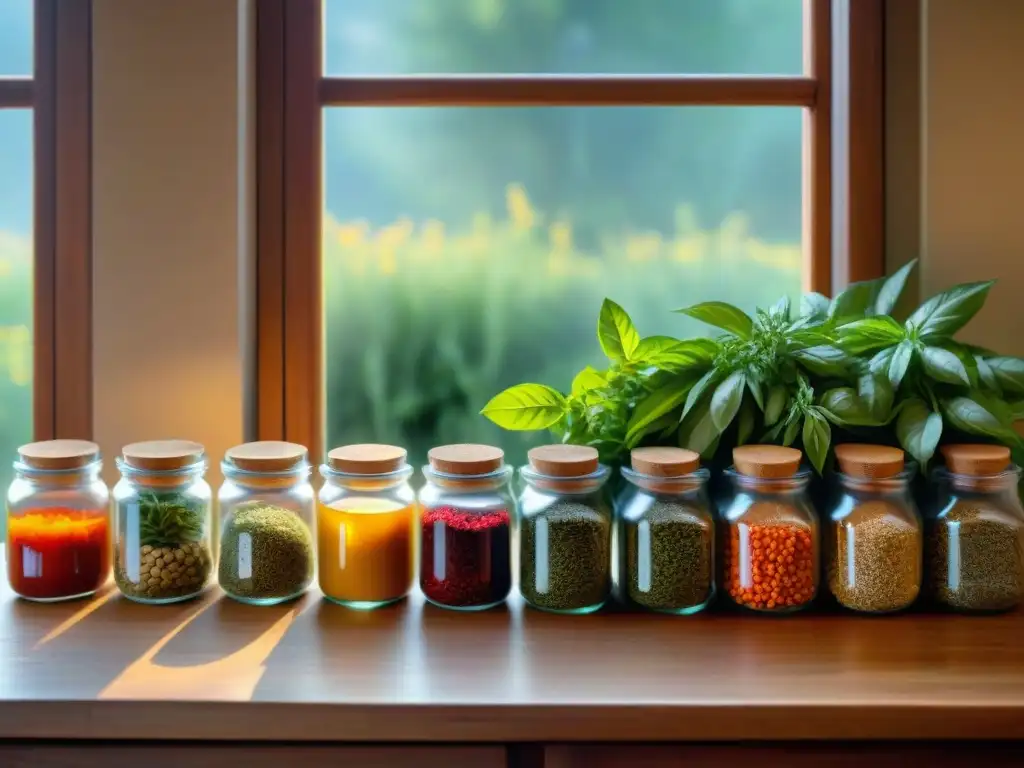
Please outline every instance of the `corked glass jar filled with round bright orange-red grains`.
[{"label": "corked glass jar filled with round bright orange-red grains", "polygon": [[723,515],[722,590],[736,605],[785,613],[811,604],[818,590],[818,518],[803,455],[780,445],[741,445],[727,474],[732,497]]}]

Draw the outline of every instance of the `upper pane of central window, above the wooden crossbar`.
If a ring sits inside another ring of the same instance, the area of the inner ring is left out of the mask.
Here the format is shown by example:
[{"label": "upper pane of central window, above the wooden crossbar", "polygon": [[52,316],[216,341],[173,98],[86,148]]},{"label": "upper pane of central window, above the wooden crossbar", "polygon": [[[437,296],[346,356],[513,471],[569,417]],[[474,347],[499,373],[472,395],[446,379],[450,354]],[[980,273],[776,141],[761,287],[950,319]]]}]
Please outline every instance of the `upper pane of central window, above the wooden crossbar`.
[{"label": "upper pane of central window, above the wooden crossbar", "polygon": [[327,74],[799,74],[803,0],[326,0]]}]

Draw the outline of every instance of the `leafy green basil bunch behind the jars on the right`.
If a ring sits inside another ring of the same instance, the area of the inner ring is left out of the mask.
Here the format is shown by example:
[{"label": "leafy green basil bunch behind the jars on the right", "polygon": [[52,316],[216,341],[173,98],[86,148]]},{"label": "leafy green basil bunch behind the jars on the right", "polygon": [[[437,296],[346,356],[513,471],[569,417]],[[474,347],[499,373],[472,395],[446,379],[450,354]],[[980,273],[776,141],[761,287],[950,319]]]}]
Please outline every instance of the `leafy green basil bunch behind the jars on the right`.
[{"label": "leafy green basil bunch behind the jars on the right", "polygon": [[754,316],[723,302],[676,310],[718,329],[712,338],[641,337],[605,299],[597,338],[608,359],[568,392],[519,384],[482,413],[510,430],[550,430],[623,461],[641,444],[711,458],[745,442],[799,444],[818,472],[838,431],[900,444],[922,467],[943,437],[998,441],[1024,461],[1024,360],[958,342],[992,281],[932,297],[909,316],[897,304],[916,262],[800,306],[783,298]]}]

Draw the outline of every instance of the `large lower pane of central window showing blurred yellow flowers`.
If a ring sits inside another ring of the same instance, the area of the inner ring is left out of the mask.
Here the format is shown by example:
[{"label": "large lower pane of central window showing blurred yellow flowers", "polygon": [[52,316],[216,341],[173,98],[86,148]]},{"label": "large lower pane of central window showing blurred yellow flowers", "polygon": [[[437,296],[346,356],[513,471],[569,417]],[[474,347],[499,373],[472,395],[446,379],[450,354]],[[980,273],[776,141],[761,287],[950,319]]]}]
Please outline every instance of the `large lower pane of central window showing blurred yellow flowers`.
[{"label": "large lower pane of central window showing blurred yellow flowers", "polygon": [[643,335],[690,336],[671,310],[800,290],[800,109],[325,113],[332,445],[493,441],[520,460],[544,435],[479,410],[606,367],[605,296]]}]

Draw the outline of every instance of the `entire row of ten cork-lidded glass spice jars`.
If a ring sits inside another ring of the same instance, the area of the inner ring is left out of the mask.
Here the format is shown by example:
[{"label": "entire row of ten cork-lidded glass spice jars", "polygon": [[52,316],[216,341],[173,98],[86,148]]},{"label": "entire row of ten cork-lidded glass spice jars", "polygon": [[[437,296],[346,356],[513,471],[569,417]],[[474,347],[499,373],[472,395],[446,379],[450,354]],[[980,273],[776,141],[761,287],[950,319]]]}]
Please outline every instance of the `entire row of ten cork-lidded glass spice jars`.
[{"label": "entire row of ten cork-lidded glass spice jars", "polygon": [[216,567],[228,596],[272,604],[301,595],[318,572],[330,600],[374,608],[409,593],[419,555],[430,602],[480,610],[511,591],[515,551],[527,604],[564,613],[599,609],[613,582],[642,609],[694,613],[719,592],[746,609],[792,612],[815,600],[819,570],[836,602],[863,612],[906,608],[923,587],[959,610],[1022,601],[1024,512],[1009,451],[946,446],[924,520],[902,452],[836,453],[836,501],[819,522],[801,453],[780,446],[734,451],[732,494],[716,514],[708,470],[681,449],[635,450],[612,504],[610,472],[593,449],[530,451],[516,500],[499,449],[440,446],[417,504],[402,449],[335,449],[317,497],[304,447],[246,443],[221,465],[215,558],[202,445],[125,446],[109,511],[94,443],[32,443],[8,493],[8,579],[29,599],[82,597],[113,559],[127,597],[164,603],[200,594]]}]

